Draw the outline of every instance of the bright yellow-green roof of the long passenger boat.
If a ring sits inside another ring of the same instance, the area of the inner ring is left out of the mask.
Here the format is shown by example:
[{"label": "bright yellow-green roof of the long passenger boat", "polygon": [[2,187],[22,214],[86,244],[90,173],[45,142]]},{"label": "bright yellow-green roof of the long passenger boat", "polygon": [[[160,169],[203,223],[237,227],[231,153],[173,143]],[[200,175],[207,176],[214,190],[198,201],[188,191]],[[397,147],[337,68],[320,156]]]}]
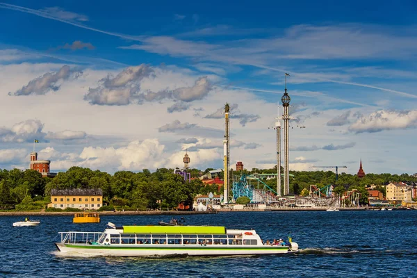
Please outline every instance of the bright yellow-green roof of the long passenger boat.
[{"label": "bright yellow-green roof of the long passenger boat", "polygon": [[123,226],[123,234],[226,234],[218,226]]}]

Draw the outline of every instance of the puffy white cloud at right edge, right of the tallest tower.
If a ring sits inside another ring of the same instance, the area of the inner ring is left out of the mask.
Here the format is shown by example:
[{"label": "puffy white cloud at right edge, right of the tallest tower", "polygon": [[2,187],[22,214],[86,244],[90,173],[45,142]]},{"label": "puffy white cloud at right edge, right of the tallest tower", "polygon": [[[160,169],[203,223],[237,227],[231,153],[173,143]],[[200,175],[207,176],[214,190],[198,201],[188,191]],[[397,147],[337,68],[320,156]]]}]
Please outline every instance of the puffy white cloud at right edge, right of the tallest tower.
[{"label": "puffy white cloud at right edge, right of the tallest tower", "polygon": [[390,129],[415,128],[417,111],[376,111],[368,116],[359,115],[357,122],[349,126],[349,130],[362,132],[379,132]]}]

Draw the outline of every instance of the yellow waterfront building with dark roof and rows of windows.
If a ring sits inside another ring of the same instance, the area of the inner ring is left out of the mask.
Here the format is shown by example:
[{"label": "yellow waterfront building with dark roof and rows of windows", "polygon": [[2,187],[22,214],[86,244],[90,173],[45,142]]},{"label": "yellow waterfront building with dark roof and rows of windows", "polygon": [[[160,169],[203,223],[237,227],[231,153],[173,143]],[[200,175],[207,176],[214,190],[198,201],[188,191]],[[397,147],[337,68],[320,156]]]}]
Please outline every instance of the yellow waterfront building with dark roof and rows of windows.
[{"label": "yellow waterfront building with dark roof and rows of windows", "polygon": [[103,206],[101,188],[52,189],[48,208],[99,209]]}]

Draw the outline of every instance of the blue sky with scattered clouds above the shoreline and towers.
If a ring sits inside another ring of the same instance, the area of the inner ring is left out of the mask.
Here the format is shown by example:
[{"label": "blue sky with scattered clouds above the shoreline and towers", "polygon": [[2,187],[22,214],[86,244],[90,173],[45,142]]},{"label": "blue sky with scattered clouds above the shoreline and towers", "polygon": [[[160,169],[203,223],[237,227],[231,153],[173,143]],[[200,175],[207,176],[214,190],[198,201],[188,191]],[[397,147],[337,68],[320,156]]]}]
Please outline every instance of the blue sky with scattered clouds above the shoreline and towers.
[{"label": "blue sky with scattered clouds above the shoreline and towers", "polygon": [[[417,136],[414,1],[3,1],[0,167],[275,165],[288,72],[291,168],[410,174]],[[13,117],[10,117],[13,115]],[[134,128],[133,128],[134,126]],[[300,129],[300,126],[306,126]],[[194,163],[194,164],[193,164]]]}]

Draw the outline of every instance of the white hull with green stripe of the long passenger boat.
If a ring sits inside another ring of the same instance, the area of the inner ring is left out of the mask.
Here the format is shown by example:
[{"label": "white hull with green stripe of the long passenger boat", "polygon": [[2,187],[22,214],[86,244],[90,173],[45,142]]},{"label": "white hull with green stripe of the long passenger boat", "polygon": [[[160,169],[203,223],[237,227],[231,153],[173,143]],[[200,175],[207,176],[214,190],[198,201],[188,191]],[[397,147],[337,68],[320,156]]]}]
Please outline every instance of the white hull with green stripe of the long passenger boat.
[{"label": "white hull with green stripe of the long passenger boat", "polygon": [[55,243],[60,252],[79,253],[92,256],[234,256],[234,255],[258,255],[258,254],[286,254],[286,246],[254,246],[254,247],[218,247],[215,245],[181,245],[181,246],[152,246],[143,245],[130,247],[129,245],[72,245]]}]

